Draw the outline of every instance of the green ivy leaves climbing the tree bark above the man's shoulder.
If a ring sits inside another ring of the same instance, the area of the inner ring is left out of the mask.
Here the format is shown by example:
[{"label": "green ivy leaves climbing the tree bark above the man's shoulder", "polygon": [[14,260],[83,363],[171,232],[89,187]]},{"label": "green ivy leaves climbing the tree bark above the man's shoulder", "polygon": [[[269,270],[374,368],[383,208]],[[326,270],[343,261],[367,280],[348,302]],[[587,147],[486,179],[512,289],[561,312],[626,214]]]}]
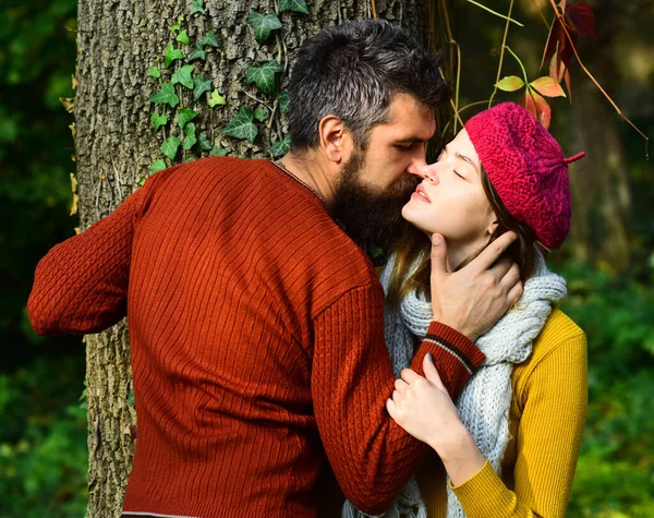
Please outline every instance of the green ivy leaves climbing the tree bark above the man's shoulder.
[{"label": "green ivy leaves climbing the tree bark above the man's shoulder", "polygon": [[[205,11],[204,0],[192,0],[189,16],[202,15]],[[253,10],[247,16],[246,24],[252,28],[259,45],[266,44],[275,36],[278,56],[275,60],[252,63],[247,68],[243,77],[244,94],[253,103],[240,106],[238,113],[220,130],[223,136],[255,143],[262,133],[263,124],[270,130],[274,119],[279,122],[278,118],[288,112],[288,92],[279,88],[281,75],[287,69],[286,47],[279,34],[283,28],[279,19],[282,12],[310,13],[304,0],[279,0],[275,12],[262,13]],[[213,142],[206,131],[198,131],[193,122],[199,116],[203,106],[214,110],[227,105],[225,96],[214,88],[211,80],[197,73],[196,67],[197,61],[206,62],[210,52],[221,51],[220,44],[215,31],[198,35],[192,40],[184,23],[185,16],[179,16],[171,25],[173,40],[168,43],[161,56],[156,57],[156,64],[148,71],[148,76],[159,83],[158,92],[149,99],[155,106],[150,121],[155,133],[161,135],[162,140],[162,156],[150,165],[152,173],[174,164],[180,154],[183,161],[190,161],[201,156],[226,156],[229,153]],[[165,81],[164,77],[168,79]],[[253,87],[251,85],[256,88],[256,95],[249,92]],[[184,106],[184,98],[193,99],[193,107]],[[270,131],[266,134],[269,135]],[[278,134],[281,134],[281,131],[278,131]],[[291,138],[290,135],[284,135],[277,142],[262,144],[268,149],[271,158],[278,158],[289,152]]]}]

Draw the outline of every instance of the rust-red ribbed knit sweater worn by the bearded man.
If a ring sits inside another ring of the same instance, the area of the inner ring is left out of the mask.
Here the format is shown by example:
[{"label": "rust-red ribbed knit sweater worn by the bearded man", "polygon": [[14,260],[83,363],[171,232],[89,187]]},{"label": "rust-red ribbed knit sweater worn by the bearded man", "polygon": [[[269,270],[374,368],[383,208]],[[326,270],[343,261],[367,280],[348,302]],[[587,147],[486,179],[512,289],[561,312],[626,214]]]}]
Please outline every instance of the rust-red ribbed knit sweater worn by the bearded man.
[{"label": "rust-red ribbed knit sweater worn by the bearded man", "polygon": [[[55,246],[28,302],[40,334],[125,315],[138,439],[124,511],[310,517],[327,457],[378,514],[425,453],[385,410],[395,376],[375,270],[319,200],[266,160],[161,171]],[[455,396],[484,357],[433,323]],[[326,455],[325,455],[326,454]]]}]

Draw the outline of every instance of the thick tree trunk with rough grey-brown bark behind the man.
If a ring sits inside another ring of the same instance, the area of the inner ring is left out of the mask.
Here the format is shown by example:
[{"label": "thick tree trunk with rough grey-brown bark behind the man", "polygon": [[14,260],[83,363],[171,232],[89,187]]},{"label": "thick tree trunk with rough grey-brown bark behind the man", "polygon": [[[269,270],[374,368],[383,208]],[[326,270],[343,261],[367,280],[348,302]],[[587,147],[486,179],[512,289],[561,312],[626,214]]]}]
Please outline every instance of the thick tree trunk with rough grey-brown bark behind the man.
[{"label": "thick tree trunk with rough grey-brown bark behind the man", "polygon": [[[320,28],[373,13],[373,3],[368,0],[310,1],[310,15],[281,13],[283,27],[268,43],[259,45],[245,21],[253,10],[274,13],[276,2],[217,0],[207,2],[204,13],[193,15],[190,15],[190,3],[181,0],[80,1],[75,144],[82,229],[110,214],[137,188],[149,174],[150,164],[162,158],[160,147],[167,137],[177,135],[183,140],[174,123],[179,107],[168,108],[171,121],[164,131],[155,132],[150,122],[150,116],[161,109],[161,105],[149,100],[158,92],[159,81],[169,81],[183,64],[194,64],[194,74],[210,79],[211,89],[217,89],[227,100],[225,107],[211,109],[207,104],[208,93],[193,101],[191,91],[175,86],[180,106],[198,111],[193,121],[196,127],[209,135],[215,147],[234,154],[268,156],[270,143],[281,140],[286,123],[274,98],[246,85],[247,68],[274,59],[287,64],[302,41]],[[421,0],[377,1],[374,7],[379,17],[401,23],[425,41],[426,8]],[[182,15],[184,20],[179,21]],[[180,28],[171,31],[175,22]],[[190,46],[175,41],[175,36],[184,29],[191,39]],[[206,62],[190,63],[189,55],[195,49],[193,44],[199,43],[211,29],[219,48],[206,47]],[[183,50],[184,59],[174,61],[168,69],[157,57],[164,55],[170,43]],[[148,75],[154,65],[161,71],[161,80]],[[283,81],[284,77],[282,84]],[[240,106],[256,104],[245,93],[266,98],[263,104],[274,113],[270,122],[261,124],[262,134],[254,143],[235,141],[220,133]],[[207,150],[202,155],[206,156]],[[190,152],[184,150],[166,165],[182,161],[187,156]],[[119,516],[122,508],[136,419],[125,323],[88,336],[86,345],[88,511],[90,518],[113,517]]]}]

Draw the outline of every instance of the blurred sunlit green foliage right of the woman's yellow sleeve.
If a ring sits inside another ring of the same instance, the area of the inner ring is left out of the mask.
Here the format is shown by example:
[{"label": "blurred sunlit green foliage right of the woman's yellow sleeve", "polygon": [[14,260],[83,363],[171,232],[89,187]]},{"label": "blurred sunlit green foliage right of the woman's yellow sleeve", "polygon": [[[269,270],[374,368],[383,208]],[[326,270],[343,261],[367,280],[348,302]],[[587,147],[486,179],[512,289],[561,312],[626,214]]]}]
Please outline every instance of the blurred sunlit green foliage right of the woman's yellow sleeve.
[{"label": "blurred sunlit green foliage right of the woman's yellow sleeve", "polygon": [[589,338],[589,419],[569,516],[654,516],[652,260],[620,275],[561,268],[569,287],[561,308]]}]

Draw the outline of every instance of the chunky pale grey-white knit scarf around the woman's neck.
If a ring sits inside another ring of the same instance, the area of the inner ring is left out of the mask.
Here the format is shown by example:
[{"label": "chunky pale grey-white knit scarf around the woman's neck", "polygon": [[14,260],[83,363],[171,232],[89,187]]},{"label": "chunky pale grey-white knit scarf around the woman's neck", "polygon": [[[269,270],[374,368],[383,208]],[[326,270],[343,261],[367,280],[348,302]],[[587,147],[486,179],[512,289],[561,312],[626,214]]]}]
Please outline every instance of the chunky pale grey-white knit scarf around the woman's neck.
[{"label": "chunky pale grey-white knit scarf around the woman's neck", "polygon": [[[382,285],[388,289],[391,257],[382,274]],[[488,459],[498,474],[509,441],[509,410],[511,406],[511,373],[517,363],[529,358],[532,340],[536,338],[552,312],[553,303],[566,296],[566,281],[545,266],[538,253],[533,276],[524,284],[524,292],[516,309],[504,315],[495,326],[480,337],[476,346],[486,361],[472,376],[457,402],[459,417],[474,437],[482,455]],[[411,364],[413,336],[424,337],[432,322],[432,305],[415,292],[402,300],[399,311],[386,308],[386,344],[393,372],[399,377],[402,369]],[[447,481],[447,518],[460,518],[465,514]],[[426,507],[415,478],[407,483],[391,507],[382,516],[400,515],[426,518]],[[342,518],[362,518],[370,515],[356,509],[347,501]]]}]

